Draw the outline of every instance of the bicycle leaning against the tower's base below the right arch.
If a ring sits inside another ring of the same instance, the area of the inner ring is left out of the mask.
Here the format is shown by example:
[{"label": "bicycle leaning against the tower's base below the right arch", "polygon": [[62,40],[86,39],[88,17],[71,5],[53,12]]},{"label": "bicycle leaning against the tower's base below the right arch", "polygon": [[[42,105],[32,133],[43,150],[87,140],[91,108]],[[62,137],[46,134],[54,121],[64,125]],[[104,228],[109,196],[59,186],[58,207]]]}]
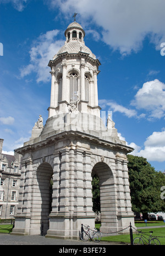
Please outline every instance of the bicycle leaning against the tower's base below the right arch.
[{"label": "bicycle leaning against the tower's base below the right arch", "polygon": [[87,231],[85,231],[84,228],[83,228],[83,232],[81,232],[81,236],[80,236],[81,240],[86,242],[90,238],[91,240],[94,240],[95,242],[100,242],[101,241],[102,233],[100,231],[98,231],[97,228],[94,228],[94,230],[92,230],[90,228],[90,226],[87,226],[87,227],[84,226],[84,227],[87,229]]}]

